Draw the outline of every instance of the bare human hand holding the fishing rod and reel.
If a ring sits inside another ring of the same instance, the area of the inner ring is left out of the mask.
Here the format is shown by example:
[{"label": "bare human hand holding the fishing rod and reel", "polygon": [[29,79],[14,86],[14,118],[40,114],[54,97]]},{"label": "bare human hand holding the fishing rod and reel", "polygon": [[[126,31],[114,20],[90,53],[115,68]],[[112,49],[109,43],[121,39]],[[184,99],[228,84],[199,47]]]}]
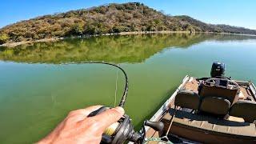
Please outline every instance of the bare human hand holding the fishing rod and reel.
[{"label": "bare human hand holding the fishing rod and reel", "polygon": [[104,130],[118,122],[125,113],[122,107],[106,110],[94,117],[87,117],[102,106],[90,106],[86,109],[71,111],[58,126],[38,142],[48,143],[100,143]]}]

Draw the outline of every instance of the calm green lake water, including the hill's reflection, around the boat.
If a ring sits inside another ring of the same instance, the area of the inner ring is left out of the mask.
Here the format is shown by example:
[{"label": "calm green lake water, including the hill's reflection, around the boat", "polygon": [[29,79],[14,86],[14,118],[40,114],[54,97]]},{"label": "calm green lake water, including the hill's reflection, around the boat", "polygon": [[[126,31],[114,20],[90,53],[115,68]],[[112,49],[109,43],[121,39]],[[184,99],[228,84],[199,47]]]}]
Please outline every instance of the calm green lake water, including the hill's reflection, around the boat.
[{"label": "calm green lake water, including the hill's reflection, around the boat", "polygon": [[126,114],[139,128],[186,74],[207,77],[214,61],[226,63],[226,76],[256,83],[255,54],[256,37],[223,34],[104,36],[0,47],[0,142],[36,142],[70,110],[119,102],[120,70],[68,62],[122,66],[130,82]]}]

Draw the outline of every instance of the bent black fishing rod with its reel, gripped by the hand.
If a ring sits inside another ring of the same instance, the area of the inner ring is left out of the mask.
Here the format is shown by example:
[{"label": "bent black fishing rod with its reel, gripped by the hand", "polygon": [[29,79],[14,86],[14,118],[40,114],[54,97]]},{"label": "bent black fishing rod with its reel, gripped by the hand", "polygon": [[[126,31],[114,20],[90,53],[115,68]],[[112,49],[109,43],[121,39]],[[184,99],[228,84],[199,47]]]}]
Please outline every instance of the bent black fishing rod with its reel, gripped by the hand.
[{"label": "bent black fishing rod with its reel, gripped by the hand", "polygon": [[[110,66],[115,66],[119,70],[122,70],[122,73],[125,76],[126,79],[126,85],[122,94],[121,102],[118,106],[124,106],[126,102],[127,92],[128,92],[128,77],[125,72],[120,66],[107,63],[107,62],[80,62],[80,63],[100,63],[100,64],[106,64]],[[105,110],[109,110],[110,107],[102,106],[98,110],[93,111],[88,116],[93,117],[94,115],[101,114]],[[146,120],[142,126],[142,130],[136,132],[134,130],[134,126],[131,123],[131,119],[127,114],[124,114],[122,118],[118,120],[118,122],[115,122],[111,126],[109,126],[104,133],[102,134],[102,141],[101,143],[106,144],[120,144],[126,141],[134,142],[138,144],[142,144],[144,142],[144,139],[146,138],[146,130],[145,126],[150,126],[154,130],[162,131],[163,130],[163,123],[162,122],[150,122]]]}]

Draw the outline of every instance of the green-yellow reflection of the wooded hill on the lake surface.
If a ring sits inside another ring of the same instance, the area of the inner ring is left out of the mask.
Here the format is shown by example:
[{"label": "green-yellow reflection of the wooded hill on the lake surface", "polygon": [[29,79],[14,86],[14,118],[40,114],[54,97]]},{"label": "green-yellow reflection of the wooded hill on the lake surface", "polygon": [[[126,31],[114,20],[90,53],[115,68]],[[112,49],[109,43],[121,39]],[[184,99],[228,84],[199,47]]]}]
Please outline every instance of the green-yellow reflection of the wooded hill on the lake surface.
[{"label": "green-yellow reflection of the wooded hill on the lake surface", "polygon": [[13,48],[0,47],[0,60],[62,63],[82,61],[143,62],[166,47],[187,48],[207,40],[232,41],[254,37],[226,34],[142,34],[74,38],[38,42]]}]

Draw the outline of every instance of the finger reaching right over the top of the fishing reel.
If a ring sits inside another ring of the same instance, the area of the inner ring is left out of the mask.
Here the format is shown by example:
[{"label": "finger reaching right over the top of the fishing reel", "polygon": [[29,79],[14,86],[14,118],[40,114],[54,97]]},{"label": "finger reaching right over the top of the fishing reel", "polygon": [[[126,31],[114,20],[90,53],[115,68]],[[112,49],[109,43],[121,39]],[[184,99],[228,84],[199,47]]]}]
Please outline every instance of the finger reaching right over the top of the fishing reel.
[{"label": "finger reaching right over the top of the fishing reel", "polygon": [[100,124],[99,127],[102,128],[102,130],[106,130],[108,126],[122,118],[123,114],[125,114],[125,110],[123,110],[122,107],[118,106],[113,109],[106,110],[101,114],[95,115],[92,118],[95,122],[98,122]]}]

